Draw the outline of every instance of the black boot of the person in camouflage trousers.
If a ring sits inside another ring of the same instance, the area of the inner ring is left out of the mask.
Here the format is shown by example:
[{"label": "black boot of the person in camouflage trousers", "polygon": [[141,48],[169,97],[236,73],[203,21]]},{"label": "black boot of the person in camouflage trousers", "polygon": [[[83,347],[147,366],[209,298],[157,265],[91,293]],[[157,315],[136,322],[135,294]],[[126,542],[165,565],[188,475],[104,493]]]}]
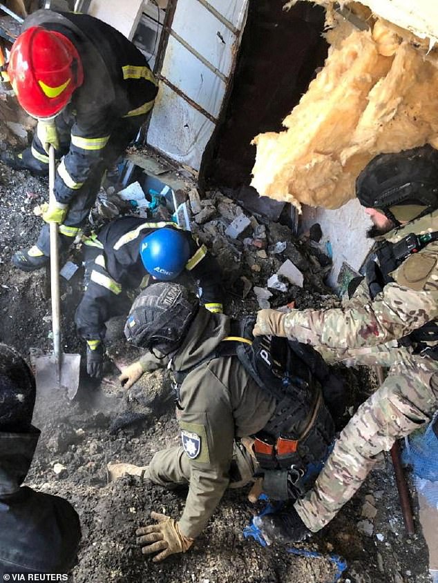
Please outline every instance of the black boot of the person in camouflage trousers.
[{"label": "black boot of the person in camouflage trousers", "polygon": [[256,516],[254,524],[262,531],[267,544],[272,544],[272,542],[290,544],[312,535],[293,506],[277,513]]}]

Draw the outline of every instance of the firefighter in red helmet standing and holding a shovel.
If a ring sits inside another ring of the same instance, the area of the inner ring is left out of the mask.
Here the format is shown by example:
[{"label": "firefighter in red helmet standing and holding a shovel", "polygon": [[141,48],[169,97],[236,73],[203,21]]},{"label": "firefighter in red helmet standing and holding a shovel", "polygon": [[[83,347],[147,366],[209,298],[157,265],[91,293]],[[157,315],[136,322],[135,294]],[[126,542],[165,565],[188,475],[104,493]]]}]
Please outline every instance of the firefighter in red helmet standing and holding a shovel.
[{"label": "firefighter in red helmet standing and holding a shovel", "polygon": [[[37,10],[12,46],[8,75],[21,107],[38,119],[32,146],[3,152],[15,169],[48,175],[48,150],[61,159],[55,202],[46,223],[59,224],[66,250],[86,224],[106,169],[114,166],[149,116],[157,82],[142,52],[115,28],[73,12]],[[49,225],[37,244],[19,250],[12,264],[32,271],[48,264]]]}]

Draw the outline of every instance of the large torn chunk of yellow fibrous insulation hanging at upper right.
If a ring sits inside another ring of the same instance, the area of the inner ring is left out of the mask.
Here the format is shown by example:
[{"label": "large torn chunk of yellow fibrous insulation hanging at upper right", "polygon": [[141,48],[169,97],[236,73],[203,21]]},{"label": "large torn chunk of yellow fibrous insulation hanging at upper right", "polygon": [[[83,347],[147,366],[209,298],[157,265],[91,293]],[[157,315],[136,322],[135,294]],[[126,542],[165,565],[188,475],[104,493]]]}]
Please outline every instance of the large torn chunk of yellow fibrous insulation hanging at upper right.
[{"label": "large torn chunk of yellow fibrous insulation hanging at upper right", "polygon": [[377,20],[373,32],[345,30],[325,66],[284,119],[286,131],[258,135],[254,186],[259,195],[338,208],[381,152],[430,143],[438,148],[438,58]]}]

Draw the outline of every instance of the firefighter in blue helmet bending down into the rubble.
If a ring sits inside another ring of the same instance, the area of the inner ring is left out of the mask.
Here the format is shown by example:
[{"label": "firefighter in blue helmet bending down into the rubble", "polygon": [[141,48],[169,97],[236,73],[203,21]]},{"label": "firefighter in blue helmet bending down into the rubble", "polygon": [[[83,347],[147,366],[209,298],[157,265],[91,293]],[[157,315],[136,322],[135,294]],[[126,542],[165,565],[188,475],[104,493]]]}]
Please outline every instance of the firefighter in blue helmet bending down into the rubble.
[{"label": "firefighter in blue helmet bending down into the rubble", "polygon": [[222,276],[216,259],[173,222],[121,217],[104,226],[97,237],[85,239],[85,247],[95,259],[88,268],[90,280],[75,323],[87,343],[91,377],[102,377],[105,322],[126,314],[132,303],[126,291],[146,287],[151,278],[169,281],[185,271],[198,281],[200,302],[207,310],[222,312]]}]

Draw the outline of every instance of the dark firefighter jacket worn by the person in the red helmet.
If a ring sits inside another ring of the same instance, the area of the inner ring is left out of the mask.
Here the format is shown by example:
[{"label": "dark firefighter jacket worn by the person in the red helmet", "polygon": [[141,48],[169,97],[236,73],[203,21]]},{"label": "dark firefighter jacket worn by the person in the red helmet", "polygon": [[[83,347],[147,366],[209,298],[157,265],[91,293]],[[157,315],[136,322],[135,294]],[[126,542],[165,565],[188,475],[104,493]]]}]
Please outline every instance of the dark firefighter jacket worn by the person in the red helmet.
[{"label": "dark firefighter jacket worn by the person in the red helmet", "polygon": [[[31,26],[68,37],[84,69],[84,83],[75,90],[68,106],[74,117],[70,149],[55,179],[57,200],[68,204],[106,156],[111,137],[117,140],[117,132],[137,117],[140,125],[144,121],[157,95],[157,82],[144,55],[131,41],[88,14],[37,10],[26,18],[21,30]],[[46,152],[35,148],[35,140],[32,155],[48,164]]]}]

